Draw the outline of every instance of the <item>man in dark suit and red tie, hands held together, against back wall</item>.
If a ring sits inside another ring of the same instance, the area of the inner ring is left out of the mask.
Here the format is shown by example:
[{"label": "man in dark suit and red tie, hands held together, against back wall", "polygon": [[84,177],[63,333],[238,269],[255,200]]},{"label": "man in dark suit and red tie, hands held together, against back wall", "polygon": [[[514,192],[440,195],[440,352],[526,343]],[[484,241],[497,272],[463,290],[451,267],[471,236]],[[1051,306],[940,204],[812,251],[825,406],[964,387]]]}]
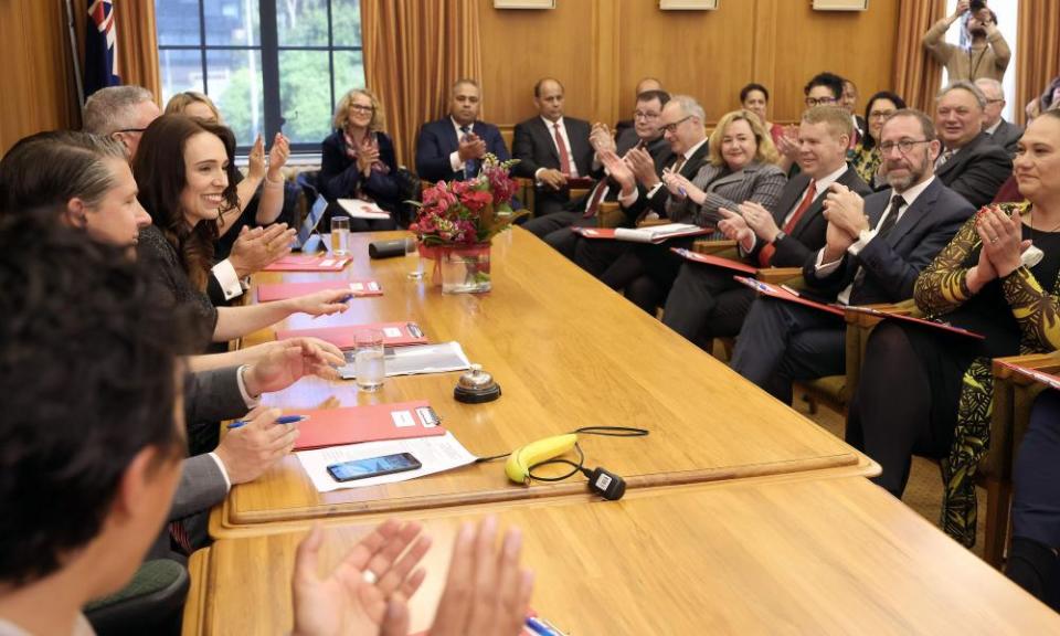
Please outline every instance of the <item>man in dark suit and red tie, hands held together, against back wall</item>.
[{"label": "man in dark suit and red tie, hands held together, against back wall", "polygon": [[533,85],[538,116],[516,125],[511,141],[516,177],[534,181],[534,214],[559,211],[570,200],[569,182],[593,170],[590,125],[563,116],[563,85],[545,77]]}]

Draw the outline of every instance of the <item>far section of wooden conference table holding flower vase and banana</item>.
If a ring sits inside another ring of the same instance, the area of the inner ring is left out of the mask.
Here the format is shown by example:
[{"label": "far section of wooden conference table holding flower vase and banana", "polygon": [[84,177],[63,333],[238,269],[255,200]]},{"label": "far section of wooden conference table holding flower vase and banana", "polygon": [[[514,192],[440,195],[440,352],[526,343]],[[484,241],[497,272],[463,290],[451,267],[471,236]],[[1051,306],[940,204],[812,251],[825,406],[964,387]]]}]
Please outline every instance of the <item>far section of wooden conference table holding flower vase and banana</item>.
[{"label": "far section of wooden conference table holding flower vase and banana", "polygon": [[[404,258],[369,261],[368,243],[404,233],[352,237],[341,273],[268,273],[255,282],[373,278],[381,297],[357,298],[343,314],[296,315],[277,328],[416,321],[432,342],[457,340],[501,385],[496,402],[453,399],[457,373],[389,378],[377,393],[352,381],[303,379],[267,395],[299,409],[428,400],[443,426],[478,456],[496,455],[582,426],[622,425],[647,437],[583,436],[586,466],[622,475],[629,489],[771,475],[872,475],[878,466],[724,364],[677,337],[564,259],[515,229],[494,242],[492,292],[443,295],[410,280]],[[273,339],[266,329],[245,339]],[[590,494],[583,477],[529,487],[509,483],[502,462],[386,486],[319,494],[294,456],[233,488],[211,518],[214,538],[305,527],[312,519],[422,515],[430,508]]]}]

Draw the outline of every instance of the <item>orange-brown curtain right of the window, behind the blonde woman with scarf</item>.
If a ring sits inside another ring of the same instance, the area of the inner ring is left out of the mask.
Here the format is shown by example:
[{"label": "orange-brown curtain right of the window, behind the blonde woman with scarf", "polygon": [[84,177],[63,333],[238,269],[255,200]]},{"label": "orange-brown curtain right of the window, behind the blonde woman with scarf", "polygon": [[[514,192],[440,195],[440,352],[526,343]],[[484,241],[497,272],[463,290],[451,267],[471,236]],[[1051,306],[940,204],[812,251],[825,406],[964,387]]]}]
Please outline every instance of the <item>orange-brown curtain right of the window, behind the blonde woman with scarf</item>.
[{"label": "orange-brown curtain right of the window, behind the blonde woman with scarf", "polygon": [[445,114],[449,85],[481,77],[478,4],[361,0],[364,80],[382,103],[398,163],[413,160],[420,126]]}]

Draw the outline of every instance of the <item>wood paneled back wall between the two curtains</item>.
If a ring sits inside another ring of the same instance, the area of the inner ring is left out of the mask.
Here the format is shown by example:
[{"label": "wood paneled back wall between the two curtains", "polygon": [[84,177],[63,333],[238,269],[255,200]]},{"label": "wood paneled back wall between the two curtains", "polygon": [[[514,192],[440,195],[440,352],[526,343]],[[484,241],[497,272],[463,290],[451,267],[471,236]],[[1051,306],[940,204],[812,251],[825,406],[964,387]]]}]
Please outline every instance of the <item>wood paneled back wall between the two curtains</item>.
[{"label": "wood paneled back wall between the two curtains", "polygon": [[657,0],[556,0],[551,11],[494,9],[481,0],[485,116],[534,114],[533,83],[566,87],[566,113],[614,121],[633,110],[637,81],[656,76],[688,93],[710,120],[739,106],[740,88],[770,88],[772,117],[795,120],[818,71],[857,83],[863,98],[890,88],[898,0],[868,11],[814,11],[810,0],[721,0],[717,11],[661,11]]}]

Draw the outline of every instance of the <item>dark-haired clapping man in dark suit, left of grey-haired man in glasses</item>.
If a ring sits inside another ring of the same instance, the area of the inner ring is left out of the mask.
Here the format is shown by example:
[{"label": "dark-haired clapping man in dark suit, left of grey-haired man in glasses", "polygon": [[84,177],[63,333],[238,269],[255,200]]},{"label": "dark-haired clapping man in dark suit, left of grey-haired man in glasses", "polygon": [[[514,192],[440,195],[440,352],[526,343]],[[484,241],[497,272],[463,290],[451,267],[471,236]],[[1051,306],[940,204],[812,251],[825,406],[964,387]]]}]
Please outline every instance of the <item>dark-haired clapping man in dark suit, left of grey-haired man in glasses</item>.
[{"label": "dark-haired clapping man in dark suit, left of grey-haired man in glasses", "polygon": [[[656,172],[661,173],[662,166],[669,160],[671,152],[669,144],[662,139],[659,117],[661,117],[662,108],[669,100],[670,96],[662,91],[642,93],[640,97],[637,98],[636,125],[619,134],[617,139],[612,137],[606,125],[594,124],[593,130],[590,132],[590,142],[596,150],[596,155],[615,152],[624,157],[634,148],[640,148],[647,150],[648,155],[651,156]],[[523,229],[541,236],[545,243],[568,258],[573,259],[581,236],[571,232],[571,226],[587,227],[596,225],[600,204],[617,200],[621,190],[622,186],[614,179],[602,174],[584,197],[568,202],[560,212],[531,219],[523,225]]]}]

